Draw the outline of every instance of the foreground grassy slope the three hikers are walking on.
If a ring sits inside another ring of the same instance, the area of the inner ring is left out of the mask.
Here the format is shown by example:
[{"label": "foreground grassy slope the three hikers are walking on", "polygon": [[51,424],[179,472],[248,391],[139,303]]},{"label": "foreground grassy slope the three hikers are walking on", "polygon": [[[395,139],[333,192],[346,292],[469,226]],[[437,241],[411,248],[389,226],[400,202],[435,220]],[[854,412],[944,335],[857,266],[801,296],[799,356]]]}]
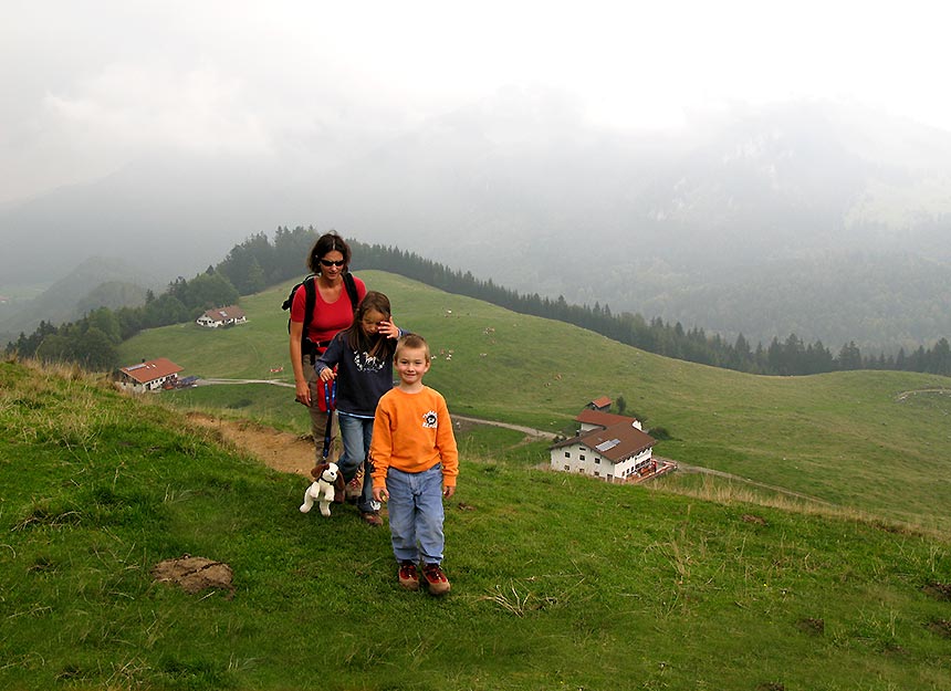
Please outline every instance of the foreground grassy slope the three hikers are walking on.
[{"label": "foreground grassy slope the three hikers are walking on", "polygon": [[437,600],[153,400],[0,363],[0,688],[951,688],[943,540],[463,454]]}]

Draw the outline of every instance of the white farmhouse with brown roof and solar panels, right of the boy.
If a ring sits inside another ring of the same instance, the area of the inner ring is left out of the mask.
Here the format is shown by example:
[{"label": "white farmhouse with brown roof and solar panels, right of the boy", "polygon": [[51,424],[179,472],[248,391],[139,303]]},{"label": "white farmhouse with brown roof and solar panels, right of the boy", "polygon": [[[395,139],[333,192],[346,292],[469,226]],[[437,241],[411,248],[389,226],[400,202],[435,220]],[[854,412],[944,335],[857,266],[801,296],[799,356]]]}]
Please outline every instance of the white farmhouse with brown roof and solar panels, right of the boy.
[{"label": "white farmhouse with brown roof and solar panels, right of the boy", "polygon": [[551,447],[551,468],[562,472],[626,482],[652,474],[657,440],[641,429],[640,422],[620,415],[591,410],[575,418],[577,435]]}]

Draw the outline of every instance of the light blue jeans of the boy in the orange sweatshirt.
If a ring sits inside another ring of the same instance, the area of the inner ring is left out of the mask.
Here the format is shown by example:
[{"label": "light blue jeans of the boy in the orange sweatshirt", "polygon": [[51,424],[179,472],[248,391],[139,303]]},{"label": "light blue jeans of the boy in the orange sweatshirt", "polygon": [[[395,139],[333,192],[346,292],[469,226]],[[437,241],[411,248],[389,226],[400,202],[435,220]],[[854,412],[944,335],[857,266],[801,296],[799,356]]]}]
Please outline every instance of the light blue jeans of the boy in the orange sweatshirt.
[{"label": "light blue jeans of the boy in the orange sweatshirt", "polygon": [[442,464],[421,473],[390,468],[386,473],[389,494],[389,532],[397,562],[442,562]]}]

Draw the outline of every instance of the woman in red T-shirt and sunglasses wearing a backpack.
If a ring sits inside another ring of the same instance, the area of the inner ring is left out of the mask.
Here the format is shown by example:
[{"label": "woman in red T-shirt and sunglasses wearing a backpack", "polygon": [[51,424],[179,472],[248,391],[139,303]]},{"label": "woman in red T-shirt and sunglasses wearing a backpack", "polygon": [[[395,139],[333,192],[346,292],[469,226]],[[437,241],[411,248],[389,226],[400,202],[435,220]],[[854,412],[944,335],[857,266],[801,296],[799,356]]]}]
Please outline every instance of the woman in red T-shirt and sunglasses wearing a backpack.
[{"label": "woman in red T-shirt and sunglasses wearing a backpack", "polygon": [[[354,311],[366,295],[366,285],[356,276],[356,302],[352,301],[345,290],[344,276],[351,261],[351,248],[335,232],[317,238],[307,256],[307,266],[316,274],[313,279],[315,302],[313,316],[304,334],[306,312],[306,289],[301,285],[291,303],[291,364],[294,367],[294,387],[297,402],[307,407],[311,412],[311,431],[314,436],[316,460],[322,457],[324,439],[330,427],[331,453],[328,461],[336,461],[334,449],[336,435],[331,416],[321,410],[317,400],[322,396],[317,381],[320,377],[314,371],[314,360],[326,350],[331,339],[337,332],[347,328],[354,321]],[[306,336],[306,341],[304,341]]]}]

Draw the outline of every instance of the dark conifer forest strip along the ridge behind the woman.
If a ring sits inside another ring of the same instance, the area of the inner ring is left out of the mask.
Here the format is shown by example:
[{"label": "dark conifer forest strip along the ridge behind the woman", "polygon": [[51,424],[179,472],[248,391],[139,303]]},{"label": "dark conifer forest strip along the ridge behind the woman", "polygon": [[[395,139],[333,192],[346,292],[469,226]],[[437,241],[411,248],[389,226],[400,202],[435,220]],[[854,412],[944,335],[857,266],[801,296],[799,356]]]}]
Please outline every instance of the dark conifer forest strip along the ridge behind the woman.
[{"label": "dark conifer forest strip along the ridge behind the woman", "polygon": [[[212,307],[233,304],[240,295],[258,293],[302,275],[302,265],[317,237],[313,227],[278,228],[273,240],[257,233],[233,247],[217,266],[191,280],[179,276],[160,295],[149,292],[145,305],[109,310],[100,307],[75,322],[40,324],[31,335],[20,334],[7,353],[48,360],[75,362],[91,369],[119,365],[115,346],[145,328],[196,320]],[[557,320],[599,333],[637,348],[677,359],[763,375],[809,375],[848,369],[899,369],[951,376],[951,346],[940,338],[932,347],[897,354],[864,355],[854,341],[833,353],[821,341],[804,343],[795,334],[773,338],[767,345],[750,344],[742,334],[728,342],[700,326],[684,328],[659,317],[638,313],[614,314],[609,305],[568,304],[537,293],[527,295],[480,280],[471,272],[443,264],[399,248],[348,240],[354,250],[352,270],[378,269],[398,273],[450,293],[482,300],[514,312]],[[278,306],[275,305],[275,308]]]}]

